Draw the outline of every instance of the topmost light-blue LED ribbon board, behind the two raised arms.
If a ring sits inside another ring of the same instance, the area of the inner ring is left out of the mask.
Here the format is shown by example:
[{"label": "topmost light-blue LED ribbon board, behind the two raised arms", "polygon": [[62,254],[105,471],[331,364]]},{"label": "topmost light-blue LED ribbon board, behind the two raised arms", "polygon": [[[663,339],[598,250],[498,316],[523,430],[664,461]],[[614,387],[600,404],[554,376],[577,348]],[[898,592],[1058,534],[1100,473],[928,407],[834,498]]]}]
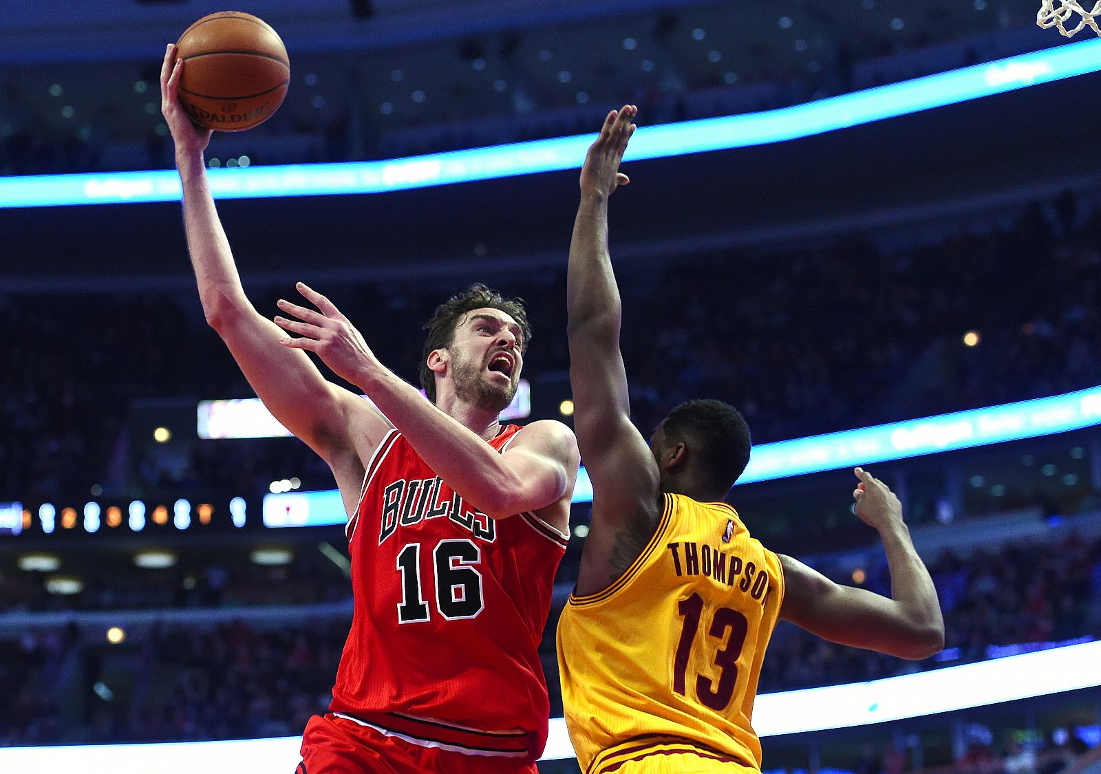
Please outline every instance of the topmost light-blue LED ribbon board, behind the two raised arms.
[{"label": "topmost light-blue LED ribbon board, behind the two raised arms", "polygon": [[[906,116],[1101,69],[1101,40],[755,113],[641,128],[625,161],[762,145]],[[383,194],[580,166],[596,134],[388,161],[210,170],[215,198]],[[172,170],[0,177],[0,208],[176,201]]]}]

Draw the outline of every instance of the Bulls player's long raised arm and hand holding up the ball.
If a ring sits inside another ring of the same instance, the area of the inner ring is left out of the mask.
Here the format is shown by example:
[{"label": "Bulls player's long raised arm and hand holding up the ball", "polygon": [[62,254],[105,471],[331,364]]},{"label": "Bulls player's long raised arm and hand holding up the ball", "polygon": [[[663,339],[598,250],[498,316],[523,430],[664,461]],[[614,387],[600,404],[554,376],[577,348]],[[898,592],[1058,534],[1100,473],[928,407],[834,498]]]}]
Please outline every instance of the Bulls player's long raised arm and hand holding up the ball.
[{"label": "Bulls player's long raised arm and hand holding up the ball", "polygon": [[275,418],[329,462],[341,490],[358,492],[360,458],[381,439],[386,422],[366,401],[325,380],[305,352],[281,346],[286,335],[246,297],[206,177],[203,152],[210,130],[193,124],[176,98],[184,63],[174,64],[174,53],[170,45],[161,68],[161,111],[176,148],[187,249],[206,319]]}]

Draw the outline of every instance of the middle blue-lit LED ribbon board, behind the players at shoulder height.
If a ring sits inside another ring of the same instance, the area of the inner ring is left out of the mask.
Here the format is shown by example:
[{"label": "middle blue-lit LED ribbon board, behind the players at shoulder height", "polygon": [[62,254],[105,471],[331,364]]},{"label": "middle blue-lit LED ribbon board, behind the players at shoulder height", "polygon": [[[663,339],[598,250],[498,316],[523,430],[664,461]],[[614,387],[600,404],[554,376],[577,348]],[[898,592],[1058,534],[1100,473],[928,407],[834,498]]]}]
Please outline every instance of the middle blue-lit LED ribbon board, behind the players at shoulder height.
[{"label": "middle blue-lit LED ribbon board, behind the players at shoulder height", "polygon": [[[890,425],[777,440],[754,446],[738,483],[818,473],[920,455],[1035,438],[1101,424],[1101,386],[986,408],[907,419]],[[592,481],[582,467],[575,503],[592,502]],[[344,524],[337,490],[264,495],[266,526]]]}]

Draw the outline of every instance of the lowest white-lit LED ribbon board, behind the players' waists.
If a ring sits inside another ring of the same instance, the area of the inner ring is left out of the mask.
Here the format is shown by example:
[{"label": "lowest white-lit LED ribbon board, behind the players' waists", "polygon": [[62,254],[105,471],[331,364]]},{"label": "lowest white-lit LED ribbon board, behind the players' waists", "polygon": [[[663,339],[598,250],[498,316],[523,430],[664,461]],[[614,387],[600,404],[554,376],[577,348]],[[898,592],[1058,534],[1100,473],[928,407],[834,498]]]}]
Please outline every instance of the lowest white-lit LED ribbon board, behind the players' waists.
[{"label": "lowest white-lit LED ribbon board, behind the players' waists", "polygon": [[[1016,701],[1101,685],[1101,642],[1026,653],[902,677],[759,696],[760,737],[827,731]],[[0,749],[0,771],[210,774],[292,771],[299,737],[176,744],[96,744]],[[566,721],[550,719],[541,760],[574,757]]]}]

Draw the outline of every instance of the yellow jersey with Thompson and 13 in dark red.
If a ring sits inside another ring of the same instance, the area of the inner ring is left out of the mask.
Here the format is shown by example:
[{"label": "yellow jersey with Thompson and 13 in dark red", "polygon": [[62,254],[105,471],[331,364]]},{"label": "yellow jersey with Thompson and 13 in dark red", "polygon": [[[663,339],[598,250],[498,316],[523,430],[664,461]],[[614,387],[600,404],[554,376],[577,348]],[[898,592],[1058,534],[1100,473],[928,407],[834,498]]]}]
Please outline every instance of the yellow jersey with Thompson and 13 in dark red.
[{"label": "yellow jersey with Thompson and 13 in dark red", "polygon": [[780,558],[727,503],[666,494],[642,554],[558,621],[566,724],[582,771],[654,744],[761,767],[750,719],[780,618]]}]

